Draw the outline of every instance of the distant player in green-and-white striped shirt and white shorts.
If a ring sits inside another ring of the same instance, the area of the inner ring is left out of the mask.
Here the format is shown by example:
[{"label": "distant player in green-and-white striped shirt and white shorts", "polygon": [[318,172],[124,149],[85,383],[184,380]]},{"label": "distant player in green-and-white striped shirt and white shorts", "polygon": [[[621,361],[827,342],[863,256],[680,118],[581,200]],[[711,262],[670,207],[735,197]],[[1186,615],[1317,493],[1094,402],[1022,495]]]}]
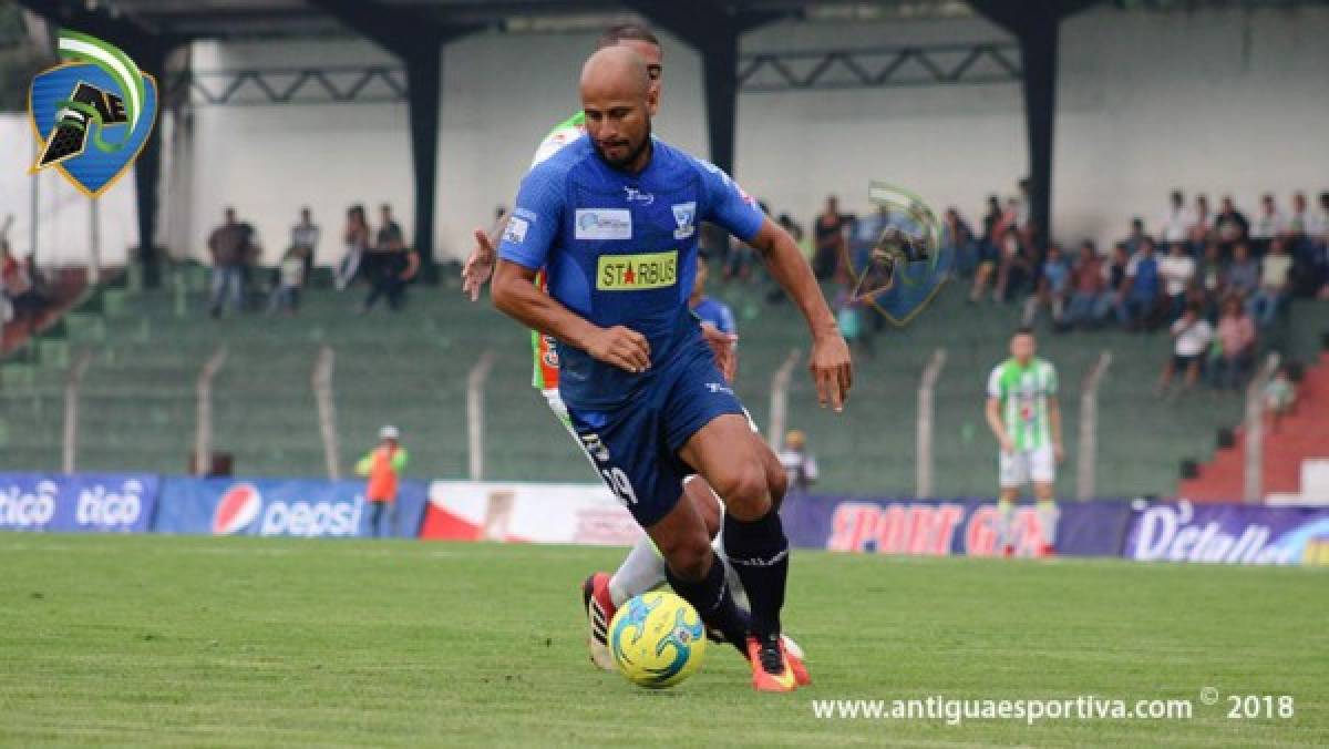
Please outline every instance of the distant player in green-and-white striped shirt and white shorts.
[{"label": "distant player in green-and-white striped shirt and white shorts", "polygon": [[1057,548],[1057,464],[1062,448],[1062,411],[1057,402],[1057,369],[1034,357],[1034,331],[1022,327],[1010,339],[1010,358],[987,378],[987,426],[1001,444],[998,459],[1002,555],[1014,555],[1011,524],[1019,490],[1034,484],[1038,522],[1043,531],[1042,556]]}]

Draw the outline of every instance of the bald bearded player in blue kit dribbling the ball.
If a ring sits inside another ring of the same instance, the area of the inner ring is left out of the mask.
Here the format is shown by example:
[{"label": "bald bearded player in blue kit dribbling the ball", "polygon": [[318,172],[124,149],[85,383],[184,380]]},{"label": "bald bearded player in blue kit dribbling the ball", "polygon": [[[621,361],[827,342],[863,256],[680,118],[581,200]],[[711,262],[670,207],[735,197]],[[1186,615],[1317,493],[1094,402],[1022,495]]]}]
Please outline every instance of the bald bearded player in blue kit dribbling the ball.
[{"label": "bald bearded player in blue kit dribbling the ball", "polygon": [[[756,689],[792,690],[808,676],[779,636],[784,471],[688,311],[699,224],[763,254],[808,321],[817,398],[837,411],[852,380],[848,347],[793,239],[723,172],[651,137],[654,93],[631,49],[593,55],[581,97],[586,136],[522,181],[493,302],[558,341],[560,391],[582,447],[664,556],[675,592],[744,652]],[[548,293],[533,283],[540,269]],[[696,507],[679,502],[691,474],[726,499],[726,547],[751,616],[734,604]]]}]

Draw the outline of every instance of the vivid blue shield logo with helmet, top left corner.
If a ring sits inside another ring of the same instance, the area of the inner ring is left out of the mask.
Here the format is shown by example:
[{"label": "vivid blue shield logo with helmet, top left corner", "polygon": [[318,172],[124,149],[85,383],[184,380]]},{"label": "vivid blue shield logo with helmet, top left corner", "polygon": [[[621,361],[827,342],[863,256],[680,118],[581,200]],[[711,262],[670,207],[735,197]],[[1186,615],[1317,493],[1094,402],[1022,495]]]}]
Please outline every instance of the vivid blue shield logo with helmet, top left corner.
[{"label": "vivid blue shield logo with helmet, top left corner", "polygon": [[61,29],[64,63],[32,80],[28,114],[41,142],[29,173],[56,168],[88,197],[125,174],[157,121],[157,81],[100,39]]}]

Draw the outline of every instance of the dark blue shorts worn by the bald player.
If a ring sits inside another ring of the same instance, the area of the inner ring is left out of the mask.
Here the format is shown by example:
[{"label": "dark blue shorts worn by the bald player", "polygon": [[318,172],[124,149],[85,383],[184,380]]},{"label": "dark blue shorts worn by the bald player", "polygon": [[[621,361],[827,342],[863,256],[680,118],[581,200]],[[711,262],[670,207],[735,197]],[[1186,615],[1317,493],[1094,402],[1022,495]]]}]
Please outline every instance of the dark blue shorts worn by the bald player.
[{"label": "dark blue shorts worn by the bald player", "polygon": [[696,472],[678,456],[683,444],[716,416],[746,414],[710,349],[679,358],[618,408],[567,408],[599,478],[643,528],[674,510],[683,479]]}]

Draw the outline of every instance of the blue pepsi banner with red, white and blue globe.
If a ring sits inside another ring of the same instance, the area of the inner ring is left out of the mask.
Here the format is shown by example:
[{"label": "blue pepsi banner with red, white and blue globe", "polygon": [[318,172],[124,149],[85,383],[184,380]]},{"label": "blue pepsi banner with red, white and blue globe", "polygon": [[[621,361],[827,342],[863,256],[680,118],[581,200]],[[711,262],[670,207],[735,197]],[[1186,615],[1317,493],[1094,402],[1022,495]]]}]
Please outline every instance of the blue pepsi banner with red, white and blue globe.
[{"label": "blue pepsi banner with red, white and blue globe", "polygon": [[[413,539],[428,504],[423,482],[401,482],[383,535]],[[364,482],[191,479],[162,483],[154,531],[217,536],[372,536]]]}]

